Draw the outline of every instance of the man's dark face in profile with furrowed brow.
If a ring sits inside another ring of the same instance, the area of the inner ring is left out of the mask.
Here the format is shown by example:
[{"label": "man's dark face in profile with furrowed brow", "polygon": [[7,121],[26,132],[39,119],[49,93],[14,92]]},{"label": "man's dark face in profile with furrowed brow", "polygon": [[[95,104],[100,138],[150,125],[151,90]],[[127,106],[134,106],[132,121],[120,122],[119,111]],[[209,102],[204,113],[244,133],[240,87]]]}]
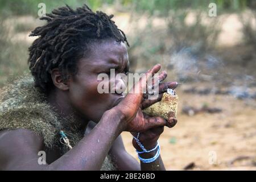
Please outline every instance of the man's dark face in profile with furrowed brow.
[{"label": "man's dark face in profile with furrowed brow", "polygon": [[[106,110],[122,99],[123,94],[100,94],[97,88],[101,80],[97,77],[100,73],[108,74],[110,85],[110,69],[115,69],[115,74],[126,73],[129,71],[129,57],[125,44],[114,40],[94,43],[89,52],[89,56],[77,63],[79,71],[69,82],[69,99],[82,117],[98,122]],[[115,79],[114,82],[120,84],[123,80]]]}]

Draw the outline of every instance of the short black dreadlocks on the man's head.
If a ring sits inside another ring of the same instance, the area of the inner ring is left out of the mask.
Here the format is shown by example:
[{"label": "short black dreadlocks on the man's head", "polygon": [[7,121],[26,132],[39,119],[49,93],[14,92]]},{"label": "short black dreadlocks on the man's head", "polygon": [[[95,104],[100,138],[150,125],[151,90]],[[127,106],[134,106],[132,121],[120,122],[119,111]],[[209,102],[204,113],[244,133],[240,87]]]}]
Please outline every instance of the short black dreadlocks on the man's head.
[{"label": "short black dreadlocks on the man's head", "polygon": [[77,60],[86,56],[89,44],[97,40],[110,38],[129,46],[123,31],[111,20],[113,16],[101,11],[94,13],[86,5],[76,10],[66,5],[40,18],[47,20],[47,24],[31,32],[30,36],[39,38],[28,48],[28,64],[35,86],[49,93],[53,68],[59,68],[61,77],[67,81],[68,73],[77,73]]}]

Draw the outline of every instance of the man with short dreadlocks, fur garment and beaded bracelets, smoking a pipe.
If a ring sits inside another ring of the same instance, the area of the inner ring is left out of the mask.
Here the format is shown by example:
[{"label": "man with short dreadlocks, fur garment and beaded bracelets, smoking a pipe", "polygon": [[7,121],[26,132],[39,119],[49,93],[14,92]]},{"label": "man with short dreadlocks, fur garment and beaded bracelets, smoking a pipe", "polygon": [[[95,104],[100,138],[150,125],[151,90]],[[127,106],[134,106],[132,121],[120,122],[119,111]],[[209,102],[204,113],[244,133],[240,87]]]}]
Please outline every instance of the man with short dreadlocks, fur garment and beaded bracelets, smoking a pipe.
[{"label": "man with short dreadlocks, fur garment and beaded bracelets, smoking a pipe", "polygon": [[[32,76],[10,82],[0,98],[0,169],[164,169],[157,140],[164,126],[177,120],[142,113],[162,94],[148,100],[142,93],[97,92],[98,74],[129,71],[129,43],[112,17],[84,5],[61,7],[41,18],[46,25],[31,33],[38,36],[29,48]],[[148,70],[133,89],[146,88],[148,75],[159,69],[157,64]],[[162,72],[159,80],[166,77]],[[160,83],[159,92],[176,85]],[[127,154],[122,131],[137,136],[133,146],[141,165]]]}]

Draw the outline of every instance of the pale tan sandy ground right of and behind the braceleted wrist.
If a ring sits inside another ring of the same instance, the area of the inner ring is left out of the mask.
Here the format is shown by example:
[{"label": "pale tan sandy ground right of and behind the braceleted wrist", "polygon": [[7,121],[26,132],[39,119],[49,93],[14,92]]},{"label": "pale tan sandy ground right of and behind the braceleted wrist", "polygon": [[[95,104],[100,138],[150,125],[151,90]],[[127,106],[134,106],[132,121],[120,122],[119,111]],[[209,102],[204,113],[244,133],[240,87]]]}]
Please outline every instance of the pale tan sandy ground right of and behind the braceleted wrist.
[{"label": "pale tan sandy ground right of and behind the braceleted wrist", "polygon": [[[172,129],[166,128],[159,139],[168,170],[180,170],[192,162],[194,170],[256,169],[255,109],[232,96],[196,96],[180,92],[179,97],[178,123]],[[187,102],[193,106],[207,102],[224,110],[189,117],[181,113],[181,106]],[[123,133],[122,137],[126,150],[136,157],[130,133]]]}]

